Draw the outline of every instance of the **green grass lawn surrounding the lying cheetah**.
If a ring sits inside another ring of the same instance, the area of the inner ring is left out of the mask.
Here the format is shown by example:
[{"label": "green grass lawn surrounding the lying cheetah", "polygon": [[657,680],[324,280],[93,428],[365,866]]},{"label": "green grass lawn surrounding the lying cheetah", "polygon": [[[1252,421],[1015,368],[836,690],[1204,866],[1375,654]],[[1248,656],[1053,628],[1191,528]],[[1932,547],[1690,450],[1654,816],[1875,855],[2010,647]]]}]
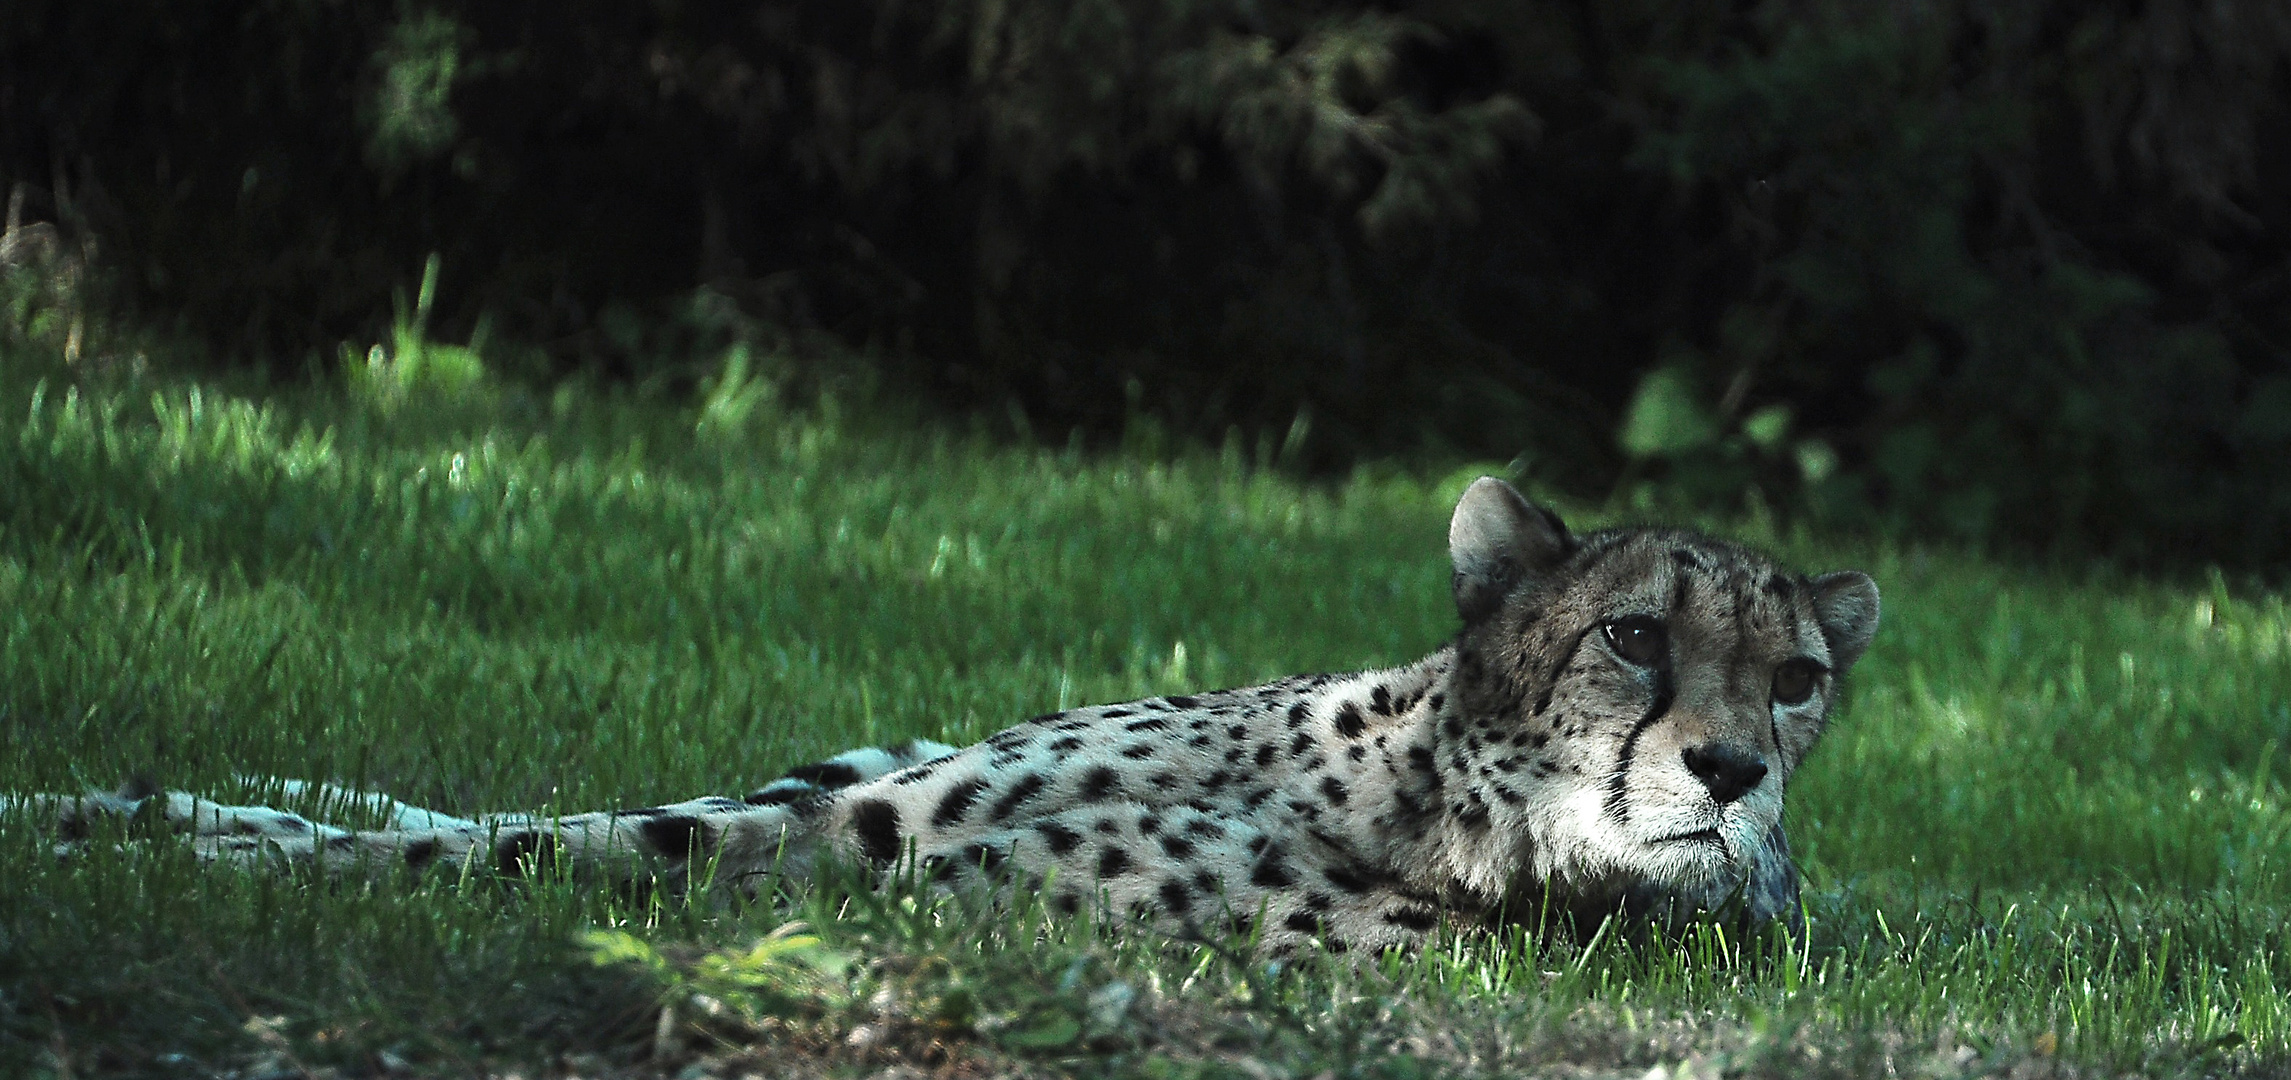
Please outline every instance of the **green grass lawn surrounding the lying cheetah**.
[{"label": "green grass lawn surrounding the lying cheetah", "polygon": [[[0,791],[261,798],[238,777],[280,775],[447,812],[641,805],[1411,660],[1452,628],[1446,516],[1478,472],[1308,486],[832,404],[385,410],[124,378],[0,353]],[[9,819],[0,1073],[2291,1066],[2284,596],[1718,530],[1885,592],[1792,786],[1805,952],[1514,931],[1262,965],[898,892],[724,910],[250,876],[149,842],[60,862]],[[788,919],[820,942],[738,958]],[[593,929],[637,958],[591,963]]]}]

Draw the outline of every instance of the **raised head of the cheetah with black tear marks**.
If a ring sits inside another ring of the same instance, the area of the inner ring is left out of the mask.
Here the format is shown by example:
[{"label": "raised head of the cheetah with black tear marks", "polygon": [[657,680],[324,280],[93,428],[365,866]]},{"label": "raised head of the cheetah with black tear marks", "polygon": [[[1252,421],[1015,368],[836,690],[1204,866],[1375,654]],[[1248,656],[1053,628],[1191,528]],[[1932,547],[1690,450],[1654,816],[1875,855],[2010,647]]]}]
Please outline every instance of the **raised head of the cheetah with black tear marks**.
[{"label": "raised head of the cheetah with black tear marks", "polygon": [[1448,548],[1464,631],[1439,761],[1514,864],[1578,901],[1748,885],[1753,913],[1792,908],[1782,786],[1876,633],[1876,582],[1691,532],[1574,537],[1491,477]]}]

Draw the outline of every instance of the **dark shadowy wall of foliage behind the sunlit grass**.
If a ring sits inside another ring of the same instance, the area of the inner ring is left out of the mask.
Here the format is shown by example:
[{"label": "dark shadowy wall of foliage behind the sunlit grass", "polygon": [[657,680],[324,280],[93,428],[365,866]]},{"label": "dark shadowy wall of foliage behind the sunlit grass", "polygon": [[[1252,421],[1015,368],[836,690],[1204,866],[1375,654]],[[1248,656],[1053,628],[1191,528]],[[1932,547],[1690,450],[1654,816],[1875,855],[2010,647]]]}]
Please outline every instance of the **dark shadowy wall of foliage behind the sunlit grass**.
[{"label": "dark shadowy wall of foliage behind the sunlit grass", "polygon": [[[2291,557],[2291,5],[11,0],[0,186],[332,378],[440,257],[520,381],[802,381]],[[825,360],[818,360],[825,365]]]}]

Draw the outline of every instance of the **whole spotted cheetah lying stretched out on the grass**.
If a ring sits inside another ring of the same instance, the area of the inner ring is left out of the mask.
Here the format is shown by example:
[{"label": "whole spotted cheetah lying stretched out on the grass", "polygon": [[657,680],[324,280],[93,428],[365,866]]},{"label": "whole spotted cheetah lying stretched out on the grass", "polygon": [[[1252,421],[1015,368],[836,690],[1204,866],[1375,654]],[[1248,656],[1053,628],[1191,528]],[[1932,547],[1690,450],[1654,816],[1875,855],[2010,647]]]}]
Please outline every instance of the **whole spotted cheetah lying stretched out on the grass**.
[{"label": "whole spotted cheetah lying stretched out on the grass", "polygon": [[66,839],[156,807],[204,858],[564,864],[756,890],[820,860],[1272,952],[1414,947],[1505,913],[1798,922],[1782,789],[1869,647],[1879,589],[1661,527],[1572,534],[1482,477],[1448,525],[1462,628],[1354,674],[1070,709],[967,750],[855,750],[747,798],[458,819],[385,796],[344,830],[186,793],[32,796]]}]

